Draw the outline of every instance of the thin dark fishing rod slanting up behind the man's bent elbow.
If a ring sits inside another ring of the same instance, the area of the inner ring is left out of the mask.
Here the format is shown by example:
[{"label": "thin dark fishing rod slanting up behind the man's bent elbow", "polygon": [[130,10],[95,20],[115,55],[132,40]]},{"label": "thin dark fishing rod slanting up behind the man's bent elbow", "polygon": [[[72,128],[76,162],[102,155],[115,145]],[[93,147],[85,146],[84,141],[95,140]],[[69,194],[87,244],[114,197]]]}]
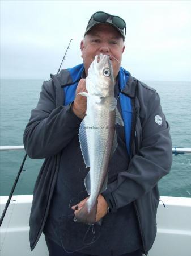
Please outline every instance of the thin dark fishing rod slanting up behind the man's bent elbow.
[{"label": "thin dark fishing rod slanting up behind the man's bent elbow", "polygon": [[[73,40],[73,39],[70,39],[70,43],[71,43],[71,40]],[[65,56],[66,56],[67,50],[70,49],[70,48],[69,48],[70,43],[69,43],[69,45],[67,46],[65,55],[63,56],[63,59],[62,59],[62,62],[61,62],[61,64],[60,64],[60,67],[59,67],[59,69],[58,69],[57,74],[58,74],[59,71],[60,71],[60,68],[61,68],[61,65],[62,65],[62,63],[63,63],[63,60],[65,60]],[[0,226],[1,226],[2,222],[3,222],[3,218],[5,217],[5,214],[6,214],[6,212],[7,212],[7,209],[8,209],[8,207],[9,207],[9,204],[10,204],[10,201],[11,201],[11,198],[12,198],[12,195],[13,195],[13,193],[14,193],[14,191],[15,191],[16,185],[17,185],[18,180],[19,180],[19,176],[20,176],[20,174],[21,174],[22,171],[23,171],[23,166],[24,166],[24,163],[25,163],[25,161],[26,161],[26,158],[27,158],[27,154],[24,155],[23,162],[22,162],[22,164],[21,164],[21,166],[20,166],[20,168],[19,168],[18,175],[16,176],[16,179],[15,179],[14,184],[13,184],[13,186],[12,186],[12,189],[11,189],[11,192],[10,192],[10,195],[9,195],[9,198],[8,198],[7,203],[6,203],[6,205],[5,205],[5,209],[3,210],[3,213],[2,213],[2,215],[1,215],[1,218],[0,218]]]}]

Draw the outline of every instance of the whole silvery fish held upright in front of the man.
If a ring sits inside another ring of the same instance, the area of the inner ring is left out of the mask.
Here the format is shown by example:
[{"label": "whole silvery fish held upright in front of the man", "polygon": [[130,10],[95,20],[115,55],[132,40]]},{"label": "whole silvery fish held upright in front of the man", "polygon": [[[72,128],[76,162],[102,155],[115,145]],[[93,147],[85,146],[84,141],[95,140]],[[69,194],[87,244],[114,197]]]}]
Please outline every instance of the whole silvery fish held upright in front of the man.
[{"label": "whole silvery fish held upright in front of the man", "polygon": [[[88,200],[75,214],[74,221],[94,225],[97,213],[97,198],[107,189],[108,164],[117,148],[115,123],[123,125],[114,97],[114,78],[109,55],[96,55],[86,78],[86,115],[79,127],[79,143],[84,163],[90,167],[84,185]],[[116,114],[117,112],[117,114]],[[117,117],[117,118],[116,118]]]}]

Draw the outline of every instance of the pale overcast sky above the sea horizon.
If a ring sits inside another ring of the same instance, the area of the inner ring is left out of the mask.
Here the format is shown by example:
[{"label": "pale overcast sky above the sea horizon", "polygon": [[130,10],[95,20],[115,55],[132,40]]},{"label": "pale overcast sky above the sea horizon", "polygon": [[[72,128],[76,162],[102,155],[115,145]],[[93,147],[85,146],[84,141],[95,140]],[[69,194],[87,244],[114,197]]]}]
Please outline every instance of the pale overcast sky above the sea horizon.
[{"label": "pale overcast sky above the sea horizon", "polygon": [[122,66],[140,80],[191,81],[191,1],[1,1],[1,78],[49,79],[82,62],[90,16],[127,24]]}]

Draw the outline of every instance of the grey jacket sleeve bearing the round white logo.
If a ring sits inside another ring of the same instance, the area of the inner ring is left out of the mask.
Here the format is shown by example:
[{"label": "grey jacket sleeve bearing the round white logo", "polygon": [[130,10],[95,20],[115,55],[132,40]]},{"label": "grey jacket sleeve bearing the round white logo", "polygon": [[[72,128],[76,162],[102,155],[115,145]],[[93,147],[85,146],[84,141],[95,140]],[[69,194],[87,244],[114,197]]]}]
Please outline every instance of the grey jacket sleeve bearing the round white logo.
[{"label": "grey jacket sleeve bearing the round white logo", "polygon": [[[141,112],[145,113],[142,117]],[[142,141],[139,151],[130,160],[128,170],[120,172],[117,180],[108,184],[107,190],[102,193],[112,210],[149,192],[171,168],[172,142],[158,93],[152,94],[141,112]]]}]

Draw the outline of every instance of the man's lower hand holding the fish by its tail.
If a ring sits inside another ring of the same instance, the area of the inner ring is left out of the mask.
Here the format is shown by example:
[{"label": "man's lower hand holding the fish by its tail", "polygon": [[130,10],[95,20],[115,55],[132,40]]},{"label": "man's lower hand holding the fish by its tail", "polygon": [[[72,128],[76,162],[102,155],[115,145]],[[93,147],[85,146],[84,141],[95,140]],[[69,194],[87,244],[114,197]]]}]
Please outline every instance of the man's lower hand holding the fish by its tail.
[{"label": "man's lower hand holding the fish by its tail", "polygon": [[[74,214],[77,214],[80,209],[82,209],[83,205],[86,203],[89,197],[86,197],[83,201],[80,201],[77,205],[71,207],[74,210]],[[97,214],[96,214],[96,222],[101,220],[107,214],[108,204],[105,201],[104,197],[100,194],[98,197],[98,204],[97,204]]]}]

